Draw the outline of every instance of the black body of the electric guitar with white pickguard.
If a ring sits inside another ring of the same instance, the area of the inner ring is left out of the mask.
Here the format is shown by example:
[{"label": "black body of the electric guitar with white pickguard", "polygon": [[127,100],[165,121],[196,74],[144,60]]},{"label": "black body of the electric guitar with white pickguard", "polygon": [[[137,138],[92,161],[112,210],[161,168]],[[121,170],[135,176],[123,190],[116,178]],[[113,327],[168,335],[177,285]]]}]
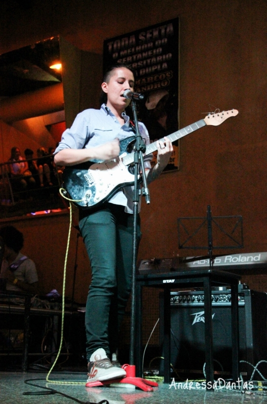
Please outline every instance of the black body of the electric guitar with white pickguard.
[{"label": "black body of the electric guitar with white pickguard", "polygon": [[[116,159],[75,166],[66,166],[63,171],[65,188],[78,208],[90,209],[108,201],[124,186],[134,184],[134,174],[123,164],[123,157],[131,152],[135,137],[120,142],[120,155]],[[141,181],[141,176],[138,176]]]}]

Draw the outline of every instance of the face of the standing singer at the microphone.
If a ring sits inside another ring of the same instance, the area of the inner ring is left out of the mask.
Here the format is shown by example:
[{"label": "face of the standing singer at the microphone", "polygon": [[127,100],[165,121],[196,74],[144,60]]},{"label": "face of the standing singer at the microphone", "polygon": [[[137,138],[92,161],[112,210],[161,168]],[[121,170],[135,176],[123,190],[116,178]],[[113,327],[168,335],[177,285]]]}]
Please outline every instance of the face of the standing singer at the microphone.
[{"label": "face of the standing singer at the microphone", "polygon": [[102,83],[102,90],[107,94],[107,106],[117,111],[124,111],[131,100],[123,97],[125,90],[134,91],[134,76],[131,70],[120,67],[112,71],[108,83]]}]

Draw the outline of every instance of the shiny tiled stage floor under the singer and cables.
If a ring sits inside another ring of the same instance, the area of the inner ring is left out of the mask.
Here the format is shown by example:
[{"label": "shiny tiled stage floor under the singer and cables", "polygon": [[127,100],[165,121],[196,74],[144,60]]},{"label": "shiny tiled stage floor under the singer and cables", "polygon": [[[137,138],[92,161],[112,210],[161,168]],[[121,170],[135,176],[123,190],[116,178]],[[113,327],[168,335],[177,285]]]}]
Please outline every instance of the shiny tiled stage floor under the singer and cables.
[{"label": "shiny tiled stage floor under the singer and cables", "polygon": [[[0,402],[1,404],[71,404],[99,403],[102,404],[260,404],[267,403],[267,391],[246,391],[227,388],[206,391],[202,386],[194,384],[159,384],[152,392],[140,389],[119,387],[91,387],[87,388],[86,373],[56,372],[49,376],[49,380],[60,382],[75,381],[79,385],[54,384],[46,381],[47,373],[42,372],[0,372]],[[30,380],[30,381],[29,381]],[[25,381],[28,381],[25,384]],[[32,386],[34,384],[35,386]],[[37,386],[36,386],[37,385]],[[40,386],[40,387],[38,387]],[[46,387],[48,389],[42,389]],[[53,393],[52,390],[58,393]],[[23,394],[30,392],[30,395]],[[46,393],[45,395],[43,393]],[[247,394],[249,392],[249,394]],[[41,394],[42,393],[42,394]],[[61,394],[60,394],[61,393]]]}]

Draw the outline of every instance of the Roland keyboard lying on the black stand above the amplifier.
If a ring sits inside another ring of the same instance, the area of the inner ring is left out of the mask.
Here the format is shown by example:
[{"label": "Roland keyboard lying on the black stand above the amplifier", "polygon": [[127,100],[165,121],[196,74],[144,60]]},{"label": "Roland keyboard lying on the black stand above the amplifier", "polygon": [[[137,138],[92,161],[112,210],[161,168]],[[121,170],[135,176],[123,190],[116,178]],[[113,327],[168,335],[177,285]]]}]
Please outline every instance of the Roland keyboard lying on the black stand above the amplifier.
[{"label": "Roland keyboard lying on the black stand above the amplifier", "polygon": [[[190,269],[210,268],[209,256],[154,258],[141,260],[139,274],[167,273]],[[234,273],[264,273],[267,269],[267,253],[242,253],[229,255],[214,255],[212,268]]]}]

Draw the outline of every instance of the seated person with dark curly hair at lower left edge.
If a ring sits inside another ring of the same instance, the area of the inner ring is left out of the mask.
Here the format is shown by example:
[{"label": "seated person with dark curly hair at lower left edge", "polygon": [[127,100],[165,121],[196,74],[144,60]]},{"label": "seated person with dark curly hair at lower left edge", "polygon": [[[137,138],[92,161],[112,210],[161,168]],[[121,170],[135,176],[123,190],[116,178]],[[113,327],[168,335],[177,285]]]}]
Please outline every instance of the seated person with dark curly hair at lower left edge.
[{"label": "seated person with dark curly hair at lower left edge", "polygon": [[14,226],[0,228],[4,241],[4,256],[0,277],[6,280],[7,291],[37,294],[38,276],[34,262],[20,253],[24,238]]}]

